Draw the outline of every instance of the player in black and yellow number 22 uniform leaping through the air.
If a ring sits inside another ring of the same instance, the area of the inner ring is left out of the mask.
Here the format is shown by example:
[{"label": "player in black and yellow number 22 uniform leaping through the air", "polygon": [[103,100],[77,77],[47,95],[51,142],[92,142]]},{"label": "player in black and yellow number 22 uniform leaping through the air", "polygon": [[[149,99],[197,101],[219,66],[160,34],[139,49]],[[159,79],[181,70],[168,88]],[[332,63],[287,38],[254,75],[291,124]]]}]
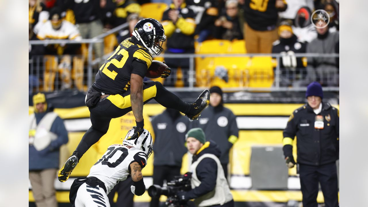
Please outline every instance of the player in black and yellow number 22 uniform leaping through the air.
[{"label": "player in black and yellow number 22 uniform leaping through the air", "polygon": [[[77,149],[59,170],[60,182],[65,182],[78,164],[82,155],[95,144],[109,129],[110,120],[133,111],[137,126],[130,139],[143,133],[143,105],[155,99],[166,108],[177,109],[190,119],[198,119],[208,106],[210,93],[202,92],[195,102],[187,103],[166,90],[160,82],[146,81],[143,78],[152,63],[152,55],[159,55],[166,36],[161,23],[152,18],[138,21],[131,38],[125,39],[106,60],[96,81],[88,89],[85,103],[91,112],[92,126],[82,137]],[[161,77],[170,75],[167,68]]]}]

